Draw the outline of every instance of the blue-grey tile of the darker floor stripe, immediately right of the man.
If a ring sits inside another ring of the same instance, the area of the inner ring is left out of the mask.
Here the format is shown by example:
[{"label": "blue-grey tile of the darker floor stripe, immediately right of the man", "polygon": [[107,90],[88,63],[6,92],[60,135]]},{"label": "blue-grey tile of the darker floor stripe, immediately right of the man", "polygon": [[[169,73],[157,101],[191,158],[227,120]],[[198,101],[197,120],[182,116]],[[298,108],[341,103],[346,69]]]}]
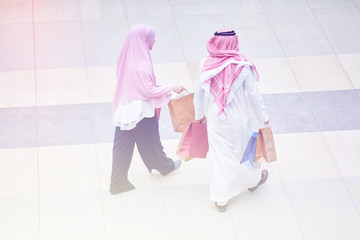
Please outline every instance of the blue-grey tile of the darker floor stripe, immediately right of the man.
[{"label": "blue-grey tile of the darker floor stripe, immediately right of the man", "polygon": [[318,131],[315,119],[301,94],[263,96],[274,133]]}]

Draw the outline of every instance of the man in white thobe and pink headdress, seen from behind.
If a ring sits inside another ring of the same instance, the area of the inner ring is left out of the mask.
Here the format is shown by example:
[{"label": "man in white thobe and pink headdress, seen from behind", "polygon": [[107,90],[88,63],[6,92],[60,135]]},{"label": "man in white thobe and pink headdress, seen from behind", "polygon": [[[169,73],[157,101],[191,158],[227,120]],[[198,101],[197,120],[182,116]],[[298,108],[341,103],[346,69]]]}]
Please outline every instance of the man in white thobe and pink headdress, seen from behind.
[{"label": "man in white thobe and pink headdress, seen from behind", "polygon": [[[195,118],[207,118],[210,200],[224,212],[230,199],[244,190],[255,191],[267,179],[267,170],[250,168],[240,160],[252,132],[268,124],[269,117],[258,90],[258,73],[239,53],[235,32],[216,32],[207,50],[196,82]],[[251,110],[257,119],[251,118]]]}]

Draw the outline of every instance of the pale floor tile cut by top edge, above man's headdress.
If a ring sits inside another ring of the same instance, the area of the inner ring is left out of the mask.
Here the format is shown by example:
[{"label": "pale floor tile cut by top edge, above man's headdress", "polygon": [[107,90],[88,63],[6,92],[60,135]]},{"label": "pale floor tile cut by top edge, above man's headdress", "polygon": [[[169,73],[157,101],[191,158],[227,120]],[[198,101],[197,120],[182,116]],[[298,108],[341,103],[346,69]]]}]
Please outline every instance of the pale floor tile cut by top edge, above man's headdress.
[{"label": "pale floor tile cut by top edge, above man's headdress", "polygon": [[263,12],[260,0],[215,0],[220,13]]}]

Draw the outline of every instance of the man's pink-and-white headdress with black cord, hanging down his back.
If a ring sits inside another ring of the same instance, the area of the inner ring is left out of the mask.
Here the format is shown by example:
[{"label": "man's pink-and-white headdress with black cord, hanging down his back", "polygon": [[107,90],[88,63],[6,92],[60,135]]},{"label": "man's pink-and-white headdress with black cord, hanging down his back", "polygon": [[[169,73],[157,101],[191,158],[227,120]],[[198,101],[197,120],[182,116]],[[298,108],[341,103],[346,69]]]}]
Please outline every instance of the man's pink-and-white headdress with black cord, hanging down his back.
[{"label": "man's pink-and-white headdress with black cord, hanging down his back", "polygon": [[[217,35],[222,33],[225,33],[225,36]],[[251,64],[252,71],[256,74],[256,80],[259,78],[258,73],[255,66],[244,55],[239,53],[238,37],[233,31],[223,29],[216,32],[207,43],[207,50],[209,56],[204,62],[202,72],[224,66],[219,73],[205,82],[210,85],[210,93],[214,96],[215,102],[220,109],[219,115],[222,113],[226,115],[227,96],[231,91],[232,83],[243,69],[243,66],[238,68],[238,63],[226,65],[226,62],[231,60],[248,62]]]}]

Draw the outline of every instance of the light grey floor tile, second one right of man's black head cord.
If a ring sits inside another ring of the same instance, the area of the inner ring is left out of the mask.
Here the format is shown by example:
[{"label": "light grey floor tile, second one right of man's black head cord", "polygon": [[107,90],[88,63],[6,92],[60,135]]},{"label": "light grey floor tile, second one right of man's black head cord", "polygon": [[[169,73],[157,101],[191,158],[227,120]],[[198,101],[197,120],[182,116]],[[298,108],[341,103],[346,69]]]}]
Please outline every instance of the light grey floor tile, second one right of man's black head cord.
[{"label": "light grey floor tile, second one right of man's black head cord", "polygon": [[279,41],[317,40],[325,38],[318,24],[274,27]]}]

